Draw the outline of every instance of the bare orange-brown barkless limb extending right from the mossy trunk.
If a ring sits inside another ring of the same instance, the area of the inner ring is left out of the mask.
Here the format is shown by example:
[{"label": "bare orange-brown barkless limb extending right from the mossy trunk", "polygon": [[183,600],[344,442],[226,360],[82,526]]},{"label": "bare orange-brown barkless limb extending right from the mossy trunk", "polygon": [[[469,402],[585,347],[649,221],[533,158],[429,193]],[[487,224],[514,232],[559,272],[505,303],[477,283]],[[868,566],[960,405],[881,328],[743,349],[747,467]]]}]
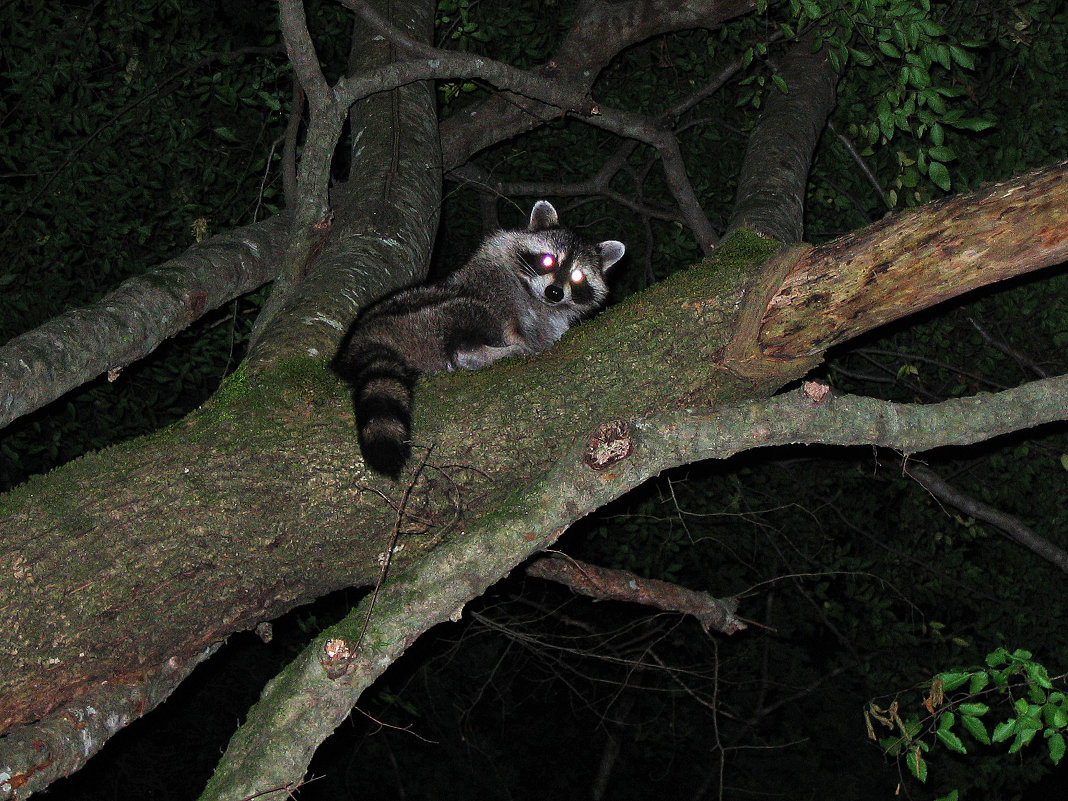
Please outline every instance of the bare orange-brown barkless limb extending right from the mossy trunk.
[{"label": "bare orange-brown barkless limb extending right from the mossy trunk", "polygon": [[970,289],[1068,260],[1068,161],[888,217],[803,252],[768,301],[760,347],[819,354]]}]

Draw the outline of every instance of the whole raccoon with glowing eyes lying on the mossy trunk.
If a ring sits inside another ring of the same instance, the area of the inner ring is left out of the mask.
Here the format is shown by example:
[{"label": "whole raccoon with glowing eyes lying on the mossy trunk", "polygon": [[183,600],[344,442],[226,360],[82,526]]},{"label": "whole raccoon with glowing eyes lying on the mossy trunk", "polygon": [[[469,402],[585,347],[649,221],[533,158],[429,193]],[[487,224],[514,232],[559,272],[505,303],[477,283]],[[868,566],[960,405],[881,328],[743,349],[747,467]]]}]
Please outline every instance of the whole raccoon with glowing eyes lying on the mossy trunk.
[{"label": "whole raccoon with glowing eyes lying on the mossy trunk", "polygon": [[545,350],[603,304],[604,273],[624,250],[562,227],[552,204],[538,201],[524,230],[489,235],[444,280],[365,309],[332,363],[352,389],[364,461],[396,478],[411,453],[419,377]]}]

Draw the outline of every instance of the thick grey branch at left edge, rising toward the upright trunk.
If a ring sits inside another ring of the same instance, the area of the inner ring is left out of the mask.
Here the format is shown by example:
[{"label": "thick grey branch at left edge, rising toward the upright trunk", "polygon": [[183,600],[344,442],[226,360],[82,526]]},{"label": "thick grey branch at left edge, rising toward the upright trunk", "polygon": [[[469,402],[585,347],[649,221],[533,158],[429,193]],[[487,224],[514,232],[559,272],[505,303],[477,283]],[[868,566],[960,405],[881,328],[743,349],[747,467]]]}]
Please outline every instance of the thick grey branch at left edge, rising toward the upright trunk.
[{"label": "thick grey branch at left edge, rising toward the upright trunk", "polygon": [[143,359],[206,312],[273,280],[287,227],[279,215],[214,236],[9,341],[0,347],[0,427]]}]

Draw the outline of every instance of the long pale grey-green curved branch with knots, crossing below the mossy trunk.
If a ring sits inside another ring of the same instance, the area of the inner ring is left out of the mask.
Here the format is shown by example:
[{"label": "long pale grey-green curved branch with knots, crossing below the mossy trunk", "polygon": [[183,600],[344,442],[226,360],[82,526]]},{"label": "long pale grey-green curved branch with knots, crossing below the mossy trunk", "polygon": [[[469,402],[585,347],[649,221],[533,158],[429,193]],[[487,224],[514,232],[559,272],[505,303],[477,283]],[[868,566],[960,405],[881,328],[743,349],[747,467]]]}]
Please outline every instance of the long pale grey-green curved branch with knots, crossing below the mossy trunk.
[{"label": "long pale grey-green curved branch with knots, crossing below the mossy trunk", "polygon": [[[299,783],[315,748],[348,716],[360,694],[419,635],[449,619],[515,565],[548,548],[575,520],[662,470],[702,458],[726,458],[752,447],[801,442],[866,444],[907,452],[967,444],[1040,422],[1068,419],[1068,376],[998,395],[932,406],[831,398],[818,388],[736,407],[681,410],[602,426],[613,442],[593,439],[562,454],[536,485],[512,496],[509,512],[473,520],[455,539],[423,555],[381,588],[366,630],[364,603],[325,631],[273,679],[231,742],[217,780],[202,797],[237,801],[282,799],[271,788]],[[1021,411],[1025,410],[1025,411]],[[598,435],[595,435],[595,437]],[[618,447],[626,441],[628,449]],[[595,446],[626,455],[591,466]],[[577,464],[586,464],[586,469]],[[284,728],[270,751],[263,743]]]}]

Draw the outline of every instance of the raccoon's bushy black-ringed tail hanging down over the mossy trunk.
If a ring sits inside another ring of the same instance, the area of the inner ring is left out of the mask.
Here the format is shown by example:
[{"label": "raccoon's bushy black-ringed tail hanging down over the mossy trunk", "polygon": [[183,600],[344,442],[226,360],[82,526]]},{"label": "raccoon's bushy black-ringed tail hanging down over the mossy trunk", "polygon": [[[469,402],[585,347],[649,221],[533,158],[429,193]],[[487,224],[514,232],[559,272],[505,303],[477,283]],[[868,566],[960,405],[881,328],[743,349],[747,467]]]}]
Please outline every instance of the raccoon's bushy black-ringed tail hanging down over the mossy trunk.
[{"label": "raccoon's bushy black-ringed tail hanging down over the mossy trunk", "polygon": [[411,456],[411,397],[418,372],[396,350],[378,343],[349,345],[334,360],[334,371],[352,388],[363,460],[396,478]]}]

